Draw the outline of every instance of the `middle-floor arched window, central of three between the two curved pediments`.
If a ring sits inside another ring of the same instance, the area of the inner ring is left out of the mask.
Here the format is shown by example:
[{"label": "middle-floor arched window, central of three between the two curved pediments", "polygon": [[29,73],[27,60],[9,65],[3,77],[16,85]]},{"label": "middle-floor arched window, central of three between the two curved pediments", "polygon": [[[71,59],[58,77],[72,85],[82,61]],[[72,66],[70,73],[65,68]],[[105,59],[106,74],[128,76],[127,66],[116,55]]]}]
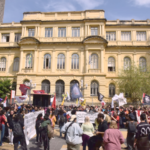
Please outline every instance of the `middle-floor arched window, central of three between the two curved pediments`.
[{"label": "middle-floor arched window, central of three between the two curved pediments", "polygon": [[57,58],[57,69],[65,69],[65,55],[59,54]]}]

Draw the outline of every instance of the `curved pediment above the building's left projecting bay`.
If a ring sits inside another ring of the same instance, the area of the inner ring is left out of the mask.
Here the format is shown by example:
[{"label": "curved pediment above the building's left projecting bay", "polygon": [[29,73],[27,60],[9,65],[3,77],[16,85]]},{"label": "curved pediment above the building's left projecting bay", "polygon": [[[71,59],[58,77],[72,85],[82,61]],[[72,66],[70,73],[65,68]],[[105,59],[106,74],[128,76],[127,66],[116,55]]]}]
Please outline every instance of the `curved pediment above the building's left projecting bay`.
[{"label": "curved pediment above the building's left projecting bay", "polygon": [[35,45],[35,44],[39,44],[39,43],[40,43],[40,41],[34,37],[24,37],[20,40],[20,42],[18,44],[19,45]]}]

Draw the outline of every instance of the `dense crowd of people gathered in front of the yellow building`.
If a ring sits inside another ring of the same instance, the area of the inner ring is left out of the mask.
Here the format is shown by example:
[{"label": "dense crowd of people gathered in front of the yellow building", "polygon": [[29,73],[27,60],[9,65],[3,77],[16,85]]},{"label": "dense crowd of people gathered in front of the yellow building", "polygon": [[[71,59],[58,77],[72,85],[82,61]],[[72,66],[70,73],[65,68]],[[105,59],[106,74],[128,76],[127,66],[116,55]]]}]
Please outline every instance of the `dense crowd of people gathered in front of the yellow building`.
[{"label": "dense crowd of people gathered in front of the yellow building", "polygon": [[[24,115],[30,112],[44,110],[45,115],[39,114],[36,119],[36,143],[50,150],[50,140],[55,140],[54,129],[58,124],[60,138],[64,138],[68,150],[121,150],[125,139],[119,129],[127,129],[126,143],[128,150],[150,149],[150,108],[141,107],[114,107],[107,106],[56,106],[47,109],[33,105],[11,105],[4,108],[0,105],[0,146],[3,141],[9,140],[14,150],[20,144],[27,150],[25,134],[23,132]],[[95,122],[90,122],[88,116],[85,122],[78,121],[77,111],[97,113]],[[68,113],[68,112],[71,112]],[[51,148],[52,149],[52,148]]]}]

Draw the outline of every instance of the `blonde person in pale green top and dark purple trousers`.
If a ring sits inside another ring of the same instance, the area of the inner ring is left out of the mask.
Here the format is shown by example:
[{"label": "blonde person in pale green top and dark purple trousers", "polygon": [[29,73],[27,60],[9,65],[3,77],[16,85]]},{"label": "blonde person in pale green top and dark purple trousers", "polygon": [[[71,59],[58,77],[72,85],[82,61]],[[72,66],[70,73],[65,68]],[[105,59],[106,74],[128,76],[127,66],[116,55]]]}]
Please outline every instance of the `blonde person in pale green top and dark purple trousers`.
[{"label": "blonde person in pale green top and dark purple trousers", "polygon": [[88,144],[90,137],[93,136],[94,133],[94,127],[93,124],[90,123],[89,117],[85,117],[85,122],[82,124],[81,129],[83,130],[82,146],[83,146],[83,150],[86,150],[86,145]]}]

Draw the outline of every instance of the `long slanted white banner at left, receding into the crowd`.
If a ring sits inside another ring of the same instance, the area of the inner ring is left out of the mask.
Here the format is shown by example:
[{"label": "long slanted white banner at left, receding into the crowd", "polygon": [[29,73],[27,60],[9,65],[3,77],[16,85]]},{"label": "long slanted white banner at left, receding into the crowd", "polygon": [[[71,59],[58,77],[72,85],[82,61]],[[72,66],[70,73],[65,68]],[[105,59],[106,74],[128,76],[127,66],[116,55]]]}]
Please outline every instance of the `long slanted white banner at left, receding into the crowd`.
[{"label": "long slanted white banner at left, receding into the crowd", "polygon": [[26,136],[27,145],[29,144],[29,140],[36,135],[35,123],[36,123],[36,118],[40,113],[42,113],[44,116],[44,110],[41,110],[37,112],[28,113],[24,117],[24,126],[25,126],[24,133]]}]

